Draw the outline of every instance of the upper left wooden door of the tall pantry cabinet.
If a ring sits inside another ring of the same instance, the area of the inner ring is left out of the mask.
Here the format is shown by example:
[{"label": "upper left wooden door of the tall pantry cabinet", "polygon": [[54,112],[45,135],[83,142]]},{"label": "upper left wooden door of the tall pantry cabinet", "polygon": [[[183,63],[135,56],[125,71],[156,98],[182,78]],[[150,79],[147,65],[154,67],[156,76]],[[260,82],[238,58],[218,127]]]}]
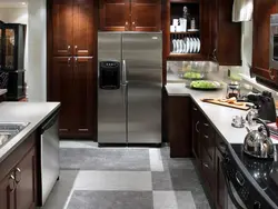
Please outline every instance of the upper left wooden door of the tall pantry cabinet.
[{"label": "upper left wooden door of the tall pantry cabinet", "polygon": [[58,0],[52,3],[53,56],[72,53],[73,9],[71,0]]}]

